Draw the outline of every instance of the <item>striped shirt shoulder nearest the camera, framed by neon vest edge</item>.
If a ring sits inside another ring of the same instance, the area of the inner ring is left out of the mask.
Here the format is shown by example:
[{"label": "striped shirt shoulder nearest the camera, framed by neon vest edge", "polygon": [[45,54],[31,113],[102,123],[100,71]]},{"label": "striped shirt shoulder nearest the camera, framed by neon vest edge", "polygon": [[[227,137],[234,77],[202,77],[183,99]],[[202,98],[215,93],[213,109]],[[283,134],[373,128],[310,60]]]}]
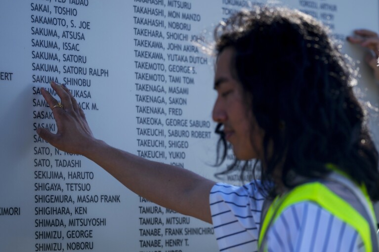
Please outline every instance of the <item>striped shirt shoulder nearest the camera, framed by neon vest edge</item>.
[{"label": "striped shirt shoulder nearest the camera, framed by neon vest edge", "polygon": [[319,205],[302,202],[286,209],[267,231],[268,252],[361,252],[361,237]]}]

